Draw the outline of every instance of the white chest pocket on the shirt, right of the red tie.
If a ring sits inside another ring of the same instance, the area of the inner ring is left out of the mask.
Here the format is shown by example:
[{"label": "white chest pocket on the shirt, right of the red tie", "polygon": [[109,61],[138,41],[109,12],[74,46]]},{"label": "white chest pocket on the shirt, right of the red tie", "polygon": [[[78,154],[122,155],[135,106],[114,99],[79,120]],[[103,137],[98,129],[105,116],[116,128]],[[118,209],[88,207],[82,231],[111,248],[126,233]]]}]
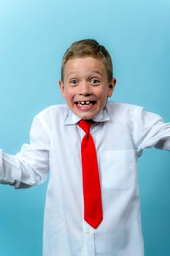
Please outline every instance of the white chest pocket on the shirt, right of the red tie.
[{"label": "white chest pocket on the shirt, right of the red tie", "polygon": [[99,158],[101,186],[105,189],[129,189],[134,185],[133,150],[102,151]]}]

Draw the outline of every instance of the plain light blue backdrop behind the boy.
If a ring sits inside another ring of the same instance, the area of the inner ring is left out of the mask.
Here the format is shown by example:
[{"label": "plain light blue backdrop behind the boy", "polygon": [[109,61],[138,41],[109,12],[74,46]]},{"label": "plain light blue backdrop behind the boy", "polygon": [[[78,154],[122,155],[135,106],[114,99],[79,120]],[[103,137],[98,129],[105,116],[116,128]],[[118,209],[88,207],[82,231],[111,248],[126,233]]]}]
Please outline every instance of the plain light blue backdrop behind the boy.
[{"label": "plain light blue backdrop behind the boy", "polygon": [[[97,39],[112,55],[112,99],[170,121],[169,25],[169,0],[0,0],[0,148],[18,152],[36,113],[63,102],[61,58],[83,38]],[[169,152],[150,149],[139,159],[146,256],[170,255],[169,169]],[[42,255],[46,187],[0,186],[1,256]]]}]

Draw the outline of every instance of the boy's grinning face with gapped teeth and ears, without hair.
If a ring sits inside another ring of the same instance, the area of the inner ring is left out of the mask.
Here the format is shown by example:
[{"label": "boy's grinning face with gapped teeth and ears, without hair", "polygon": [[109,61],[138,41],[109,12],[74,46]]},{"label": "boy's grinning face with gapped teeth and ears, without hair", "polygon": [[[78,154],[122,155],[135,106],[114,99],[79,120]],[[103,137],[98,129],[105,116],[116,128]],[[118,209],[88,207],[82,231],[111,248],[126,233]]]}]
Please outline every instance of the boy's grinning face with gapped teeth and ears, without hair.
[{"label": "boy's grinning face with gapped teeth and ears, without hair", "polygon": [[92,119],[104,108],[115,83],[115,78],[108,81],[103,61],[92,57],[69,59],[59,81],[68,107],[82,119]]}]

